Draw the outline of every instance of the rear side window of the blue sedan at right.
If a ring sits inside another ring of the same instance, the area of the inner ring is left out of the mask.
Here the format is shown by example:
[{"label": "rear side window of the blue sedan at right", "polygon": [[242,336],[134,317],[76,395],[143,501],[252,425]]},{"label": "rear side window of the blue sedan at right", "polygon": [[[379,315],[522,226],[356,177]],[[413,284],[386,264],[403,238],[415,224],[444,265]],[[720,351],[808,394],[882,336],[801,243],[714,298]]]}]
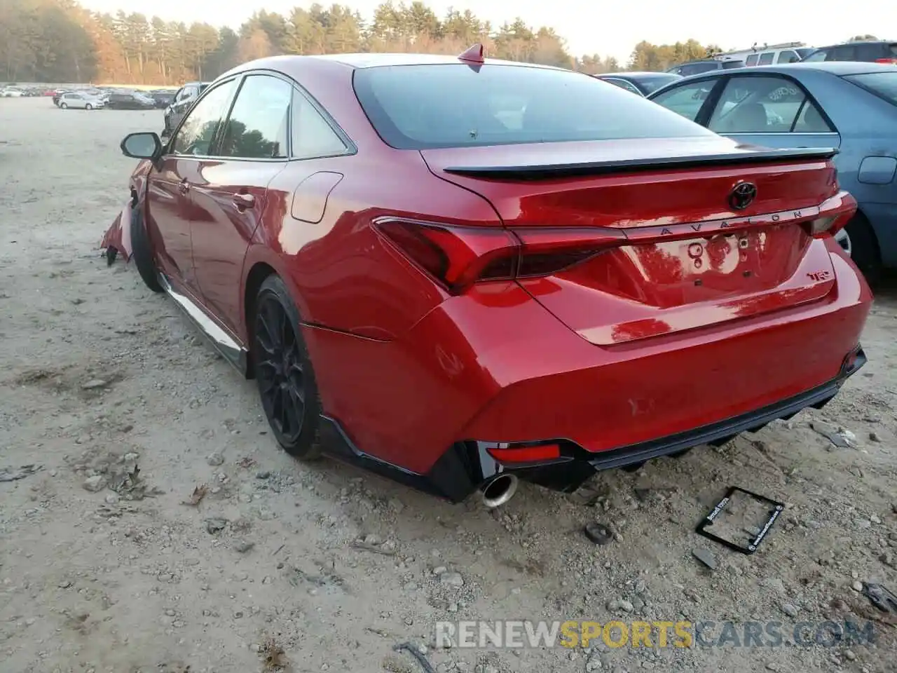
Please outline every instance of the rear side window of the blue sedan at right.
[{"label": "rear side window of the blue sedan at right", "polygon": [[[721,134],[788,133],[798,130],[797,119],[798,115],[804,118],[805,101],[797,84],[783,77],[733,77],[719,97],[708,127]],[[813,104],[806,101],[806,106]],[[819,121],[821,116],[812,116],[805,126],[811,122],[818,126]]]}]

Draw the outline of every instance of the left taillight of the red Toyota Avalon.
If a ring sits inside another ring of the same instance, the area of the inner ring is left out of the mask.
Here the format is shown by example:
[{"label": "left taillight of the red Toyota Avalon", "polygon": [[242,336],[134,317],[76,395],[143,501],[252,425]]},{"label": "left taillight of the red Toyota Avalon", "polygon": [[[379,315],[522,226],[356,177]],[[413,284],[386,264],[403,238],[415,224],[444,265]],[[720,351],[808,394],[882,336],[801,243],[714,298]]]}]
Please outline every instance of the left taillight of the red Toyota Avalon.
[{"label": "left taillight of the red Toyota Avalon", "polygon": [[619,245],[606,228],[460,227],[401,218],[374,223],[414,264],[454,294],[488,280],[552,275]]}]

